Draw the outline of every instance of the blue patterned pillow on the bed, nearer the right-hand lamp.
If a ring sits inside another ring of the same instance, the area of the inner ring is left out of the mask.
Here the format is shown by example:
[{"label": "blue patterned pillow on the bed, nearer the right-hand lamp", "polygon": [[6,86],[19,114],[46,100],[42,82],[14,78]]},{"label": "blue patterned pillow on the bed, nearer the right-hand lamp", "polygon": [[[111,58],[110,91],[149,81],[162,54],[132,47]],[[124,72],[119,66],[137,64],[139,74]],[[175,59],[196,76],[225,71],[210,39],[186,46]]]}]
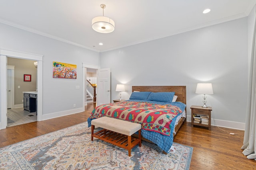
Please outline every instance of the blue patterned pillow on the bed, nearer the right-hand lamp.
[{"label": "blue patterned pillow on the bed, nearer the right-hand lamp", "polygon": [[147,100],[156,102],[172,102],[175,92],[152,92]]}]

